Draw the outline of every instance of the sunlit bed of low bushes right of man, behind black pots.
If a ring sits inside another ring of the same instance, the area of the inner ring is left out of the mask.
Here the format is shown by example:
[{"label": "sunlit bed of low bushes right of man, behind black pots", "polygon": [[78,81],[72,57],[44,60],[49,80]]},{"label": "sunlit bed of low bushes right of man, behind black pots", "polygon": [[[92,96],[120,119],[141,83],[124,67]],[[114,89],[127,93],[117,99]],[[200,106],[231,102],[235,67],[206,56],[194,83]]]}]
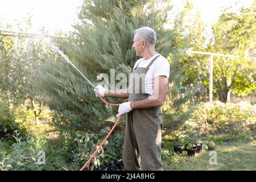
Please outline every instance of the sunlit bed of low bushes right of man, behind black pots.
[{"label": "sunlit bed of low bushes right of man, behind black pots", "polygon": [[195,105],[193,110],[191,118],[177,130],[171,134],[164,131],[163,148],[207,140],[222,143],[255,138],[256,105],[216,101]]}]

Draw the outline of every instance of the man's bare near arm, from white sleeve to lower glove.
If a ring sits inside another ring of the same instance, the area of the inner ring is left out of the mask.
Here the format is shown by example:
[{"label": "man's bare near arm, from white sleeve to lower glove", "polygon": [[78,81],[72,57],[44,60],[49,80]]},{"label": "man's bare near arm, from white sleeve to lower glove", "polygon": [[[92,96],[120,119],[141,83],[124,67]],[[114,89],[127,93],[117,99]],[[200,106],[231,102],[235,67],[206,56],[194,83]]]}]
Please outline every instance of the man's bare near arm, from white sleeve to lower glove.
[{"label": "man's bare near arm, from white sleeve to lower glove", "polygon": [[165,103],[167,93],[168,78],[166,76],[155,77],[154,94],[141,101],[131,102],[131,109],[149,109],[151,107],[162,106]]}]

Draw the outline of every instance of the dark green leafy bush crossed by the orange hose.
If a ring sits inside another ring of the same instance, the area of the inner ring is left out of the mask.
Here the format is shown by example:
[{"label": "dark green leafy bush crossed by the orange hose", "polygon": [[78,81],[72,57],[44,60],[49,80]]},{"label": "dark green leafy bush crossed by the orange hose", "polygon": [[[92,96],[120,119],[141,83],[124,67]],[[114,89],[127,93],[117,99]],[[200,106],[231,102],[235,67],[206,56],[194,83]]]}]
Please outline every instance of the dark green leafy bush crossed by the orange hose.
[{"label": "dark green leafy bush crossed by the orange hose", "polygon": [[[67,134],[66,139],[63,140],[65,144],[63,145],[64,153],[62,152],[66,163],[73,166],[73,169],[81,168],[90,158],[91,154],[98,148],[109,131],[110,128],[106,127],[101,130],[99,135],[84,133],[82,131],[77,131],[72,135]],[[93,170],[95,168],[114,165],[118,160],[122,159],[122,144],[122,135],[118,133],[111,134],[103,145],[103,148],[98,151],[98,154],[95,155],[95,158],[86,169]]]}]

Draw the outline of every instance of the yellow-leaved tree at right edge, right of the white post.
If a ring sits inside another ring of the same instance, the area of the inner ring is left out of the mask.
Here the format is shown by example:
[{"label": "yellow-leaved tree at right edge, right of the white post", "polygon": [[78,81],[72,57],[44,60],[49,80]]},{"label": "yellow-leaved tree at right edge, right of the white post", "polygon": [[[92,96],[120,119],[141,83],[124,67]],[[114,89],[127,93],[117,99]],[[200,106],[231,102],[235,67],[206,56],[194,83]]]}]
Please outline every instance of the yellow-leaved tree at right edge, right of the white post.
[{"label": "yellow-leaved tree at right edge, right of the white post", "polygon": [[214,40],[206,51],[240,56],[214,58],[214,86],[221,101],[227,101],[229,91],[246,96],[256,88],[256,64],[248,59],[255,45],[255,16],[256,1],[238,11],[233,7],[225,9],[213,25]]}]

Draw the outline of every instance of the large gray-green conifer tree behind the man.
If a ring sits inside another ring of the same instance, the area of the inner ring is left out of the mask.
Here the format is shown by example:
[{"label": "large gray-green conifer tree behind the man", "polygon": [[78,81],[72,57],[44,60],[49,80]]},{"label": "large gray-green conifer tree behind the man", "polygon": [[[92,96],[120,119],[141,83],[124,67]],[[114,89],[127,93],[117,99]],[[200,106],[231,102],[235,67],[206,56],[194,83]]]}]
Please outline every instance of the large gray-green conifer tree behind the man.
[{"label": "large gray-green conifer tree behind the man", "polygon": [[[175,28],[164,28],[170,10],[170,1],[84,1],[78,15],[80,22],[74,25],[70,39],[55,44],[96,86],[101,73],[110,77],[111,69],[115,75],[128,76],[131,72],[139,58],[131,48],[134,30],[139,27],[153,28],[157,34],[157,52],[175,61],[179,46],[174,38],[178,32]],[[38,92],[47,96],[48,105],[55,110],[56,123],[62,129],[97,131],[113,125],[117,108],[106,106],[95,97],[93,87],[61,57],[45,61],[35,75],[40,78]],[[114,103],[125,101],[106,99]]]}]

